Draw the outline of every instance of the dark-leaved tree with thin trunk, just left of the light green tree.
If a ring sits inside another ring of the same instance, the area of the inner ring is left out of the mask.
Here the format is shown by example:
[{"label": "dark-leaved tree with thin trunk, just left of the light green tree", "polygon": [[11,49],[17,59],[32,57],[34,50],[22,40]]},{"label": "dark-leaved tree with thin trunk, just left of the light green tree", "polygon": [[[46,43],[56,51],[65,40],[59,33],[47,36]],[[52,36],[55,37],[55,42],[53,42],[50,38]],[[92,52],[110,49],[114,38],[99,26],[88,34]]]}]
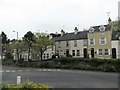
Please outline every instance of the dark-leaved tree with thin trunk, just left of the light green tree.
[{"label": "dark-leaved tree with thin trunk, just left of the light green tree", "polygon": [[27,42],[27,44],[28,44],[28,60],[30,60],[30,50],[31,50],[31,45],[32,45],[32,43],[33,43],[33,41],[34,41],[34,34],[31,32],[31,31],[28,31],[25,35],[24,35],[24,37],[23,37],[23,40],[25,41],[25,42]]}]

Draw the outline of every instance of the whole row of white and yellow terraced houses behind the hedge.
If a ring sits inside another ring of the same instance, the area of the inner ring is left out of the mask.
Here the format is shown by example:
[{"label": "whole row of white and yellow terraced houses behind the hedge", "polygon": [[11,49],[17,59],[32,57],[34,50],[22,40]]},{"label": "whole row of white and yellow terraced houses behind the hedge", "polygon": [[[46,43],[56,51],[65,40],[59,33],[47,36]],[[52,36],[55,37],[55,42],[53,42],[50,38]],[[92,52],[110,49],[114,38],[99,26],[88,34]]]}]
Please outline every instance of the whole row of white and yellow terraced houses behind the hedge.
[{"label": "whole row of white and yellow terraced houses behind the hedge", "polygon": [[[86,31],[79,31],[77,27],[72,33],[61,30],[61,36],[52,38],[54,45],[44,52],[43,60],[51,59],[53,55],[76,58],[120,58],[120,32],[114,32],[111,20],[108,21],[107,25],[92,26]],[[20,57],[27,60],[27,55],[21,53]],[[40,59],[35,52],[31,53],[30,58]],[[16,59],[15,53],[14,59]]]}]

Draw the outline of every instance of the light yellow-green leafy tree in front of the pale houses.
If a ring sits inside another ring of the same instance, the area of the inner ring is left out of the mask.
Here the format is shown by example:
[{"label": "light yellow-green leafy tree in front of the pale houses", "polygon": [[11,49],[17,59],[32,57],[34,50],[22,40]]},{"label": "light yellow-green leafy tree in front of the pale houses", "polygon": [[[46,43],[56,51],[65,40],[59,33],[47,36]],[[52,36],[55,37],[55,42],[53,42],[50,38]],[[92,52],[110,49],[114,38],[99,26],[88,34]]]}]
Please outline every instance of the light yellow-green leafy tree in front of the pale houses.
[{"label": "light yellow-green leafy tree in front of the pale houses", "polygon": [[45,33],[36,33],[35,42],[32,44],[33,49],[38,52],[39,57],[42,59],[44,51],[47,50],[48,46],[52,45],[52,40],[49,39],[49,35]]}]

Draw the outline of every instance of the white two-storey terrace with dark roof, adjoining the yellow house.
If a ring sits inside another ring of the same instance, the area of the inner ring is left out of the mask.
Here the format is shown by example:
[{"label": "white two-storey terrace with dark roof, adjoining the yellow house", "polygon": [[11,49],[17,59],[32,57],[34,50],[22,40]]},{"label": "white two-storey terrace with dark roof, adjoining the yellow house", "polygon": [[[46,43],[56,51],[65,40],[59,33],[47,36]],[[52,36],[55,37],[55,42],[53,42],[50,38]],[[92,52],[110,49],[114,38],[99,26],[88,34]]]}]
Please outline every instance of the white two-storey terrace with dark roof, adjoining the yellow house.
[{"label": "white two-storey terrace with dark roof, adjoining the yellow house", "polygon": [[87,57],[87,31],[79,32],[77,27],[73,33],[62,30],[55,40],[55,52],[59,57]]}]

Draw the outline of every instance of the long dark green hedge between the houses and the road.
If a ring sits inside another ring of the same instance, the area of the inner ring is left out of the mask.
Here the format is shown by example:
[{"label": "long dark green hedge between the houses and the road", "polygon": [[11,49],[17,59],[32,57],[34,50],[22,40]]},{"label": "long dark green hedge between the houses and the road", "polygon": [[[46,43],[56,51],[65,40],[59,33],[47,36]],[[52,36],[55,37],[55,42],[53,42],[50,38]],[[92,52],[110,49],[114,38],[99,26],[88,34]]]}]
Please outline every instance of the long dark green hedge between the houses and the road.
[{"label": "long dark green hedge between the houses and the road", "polygon": [[57,68],[77,70],[97,70],[105,72],[120,71],[120,59],[97,58],[57,58],[51,61],[3,61],[4,65],[35,68]]}]

